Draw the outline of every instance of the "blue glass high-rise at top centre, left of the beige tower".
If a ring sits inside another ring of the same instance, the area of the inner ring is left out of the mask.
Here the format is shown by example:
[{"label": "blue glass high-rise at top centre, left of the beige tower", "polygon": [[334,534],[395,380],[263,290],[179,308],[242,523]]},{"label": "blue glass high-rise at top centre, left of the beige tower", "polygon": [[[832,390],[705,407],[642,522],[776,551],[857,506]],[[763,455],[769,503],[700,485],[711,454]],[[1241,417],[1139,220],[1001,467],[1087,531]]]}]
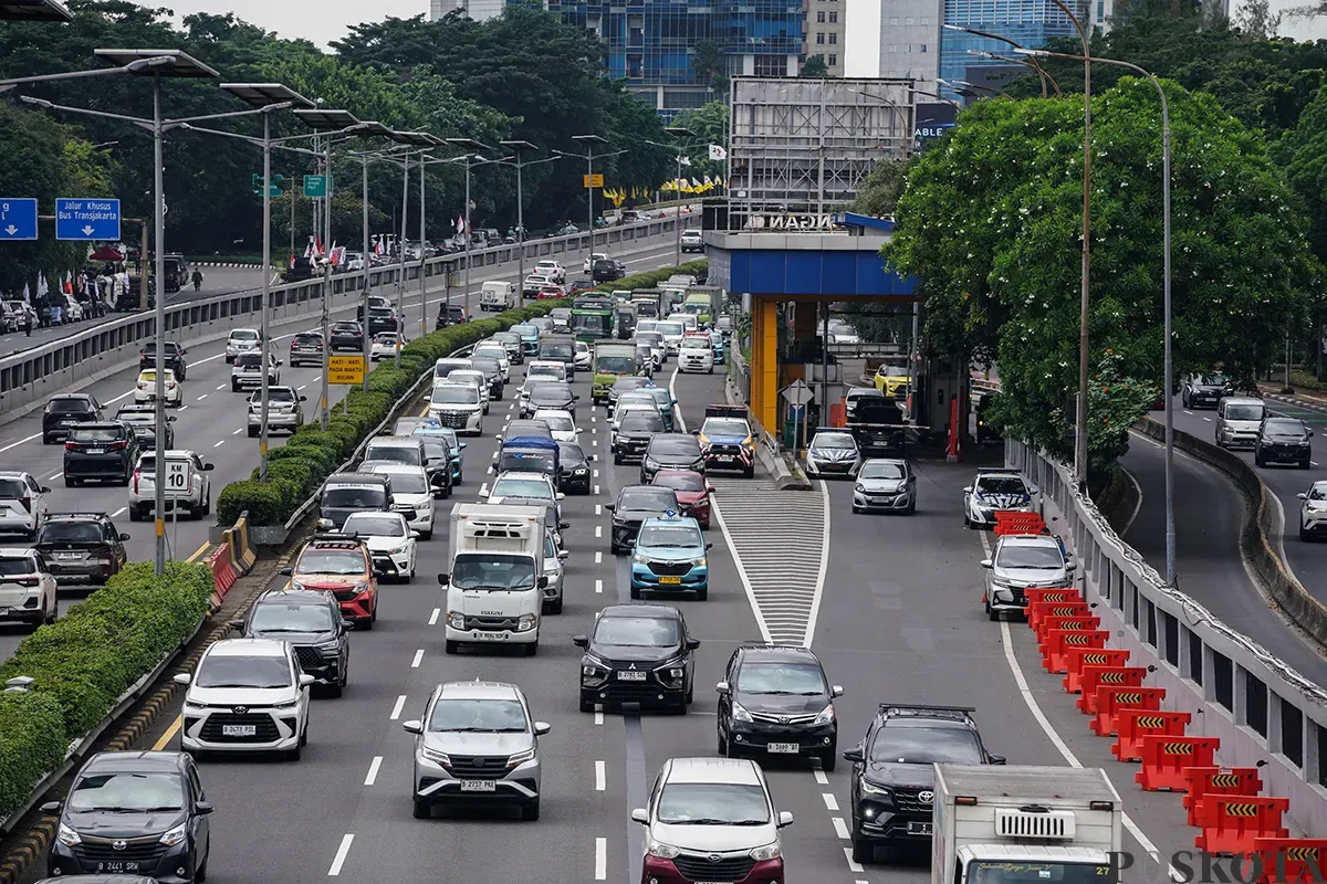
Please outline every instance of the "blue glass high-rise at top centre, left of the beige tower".
[{"label": "blue glass high-rise at top centre, left of the beige tower", "polygon": [[[825,7],[843,4],[843,0],[823,1]],[[625,80],[629,91],[653,105],[665,119],[671,119],[678,111],[699,107],[718,97],[710,86],[711,73],[796,77],[802,53],[802,3],[547,0],[547,8],[598,37],[606,76]],[[713,62],[718,70],[714,72],[702,70],[707,61],[703,49],[710,45],[717,49]]]}]

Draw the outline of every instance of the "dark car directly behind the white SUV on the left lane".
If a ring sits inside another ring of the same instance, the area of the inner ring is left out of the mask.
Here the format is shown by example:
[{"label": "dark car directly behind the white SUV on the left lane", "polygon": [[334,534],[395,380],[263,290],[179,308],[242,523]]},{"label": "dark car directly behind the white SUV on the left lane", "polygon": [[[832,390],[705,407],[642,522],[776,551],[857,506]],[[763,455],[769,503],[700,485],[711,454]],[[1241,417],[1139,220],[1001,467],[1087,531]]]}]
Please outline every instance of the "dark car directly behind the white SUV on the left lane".
[{"label": "dark car directly behind the white SUV on the left lane", "polygon": [[[393,517],[394,518],[394,517]],[[257,596],[248,616],[231,620],[244,639],[289,641],[300,669],[340,697],[350,665],[349,622],[330,592],[271,590]]]}]

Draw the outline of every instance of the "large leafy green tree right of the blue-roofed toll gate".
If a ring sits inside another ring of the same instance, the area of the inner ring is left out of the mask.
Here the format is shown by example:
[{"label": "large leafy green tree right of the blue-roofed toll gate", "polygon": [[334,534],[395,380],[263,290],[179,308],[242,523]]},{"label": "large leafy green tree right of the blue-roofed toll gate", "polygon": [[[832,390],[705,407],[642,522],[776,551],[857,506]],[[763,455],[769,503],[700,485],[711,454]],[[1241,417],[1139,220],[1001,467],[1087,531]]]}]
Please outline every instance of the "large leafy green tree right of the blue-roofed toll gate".
[{"label": "large leafy green tree right of the blue-roofed toll gate", "polygon": [[[1220,363],[1253,376],[1286,322],[1306,321],[1319,265],[1262,139],[1210,95],[1164,85],[1176,368]],[[1115,376],[1144,390],[1161,378],[1162,353],[1157,97],[1125,78],[1092,109],[1091,359],[1109,354]],[[1078,388],[1082,126],[1082,97],[977,102],[909,171],[886,248],[896,269],[921,280],[933,346],[965,363],[998,362],[1011,394],[1001,420],[1060,455]],[[1104,416],[1089,421],[1092,469],[1117,453]],[[1111,427],[1132,416],[1121,406]]]}]

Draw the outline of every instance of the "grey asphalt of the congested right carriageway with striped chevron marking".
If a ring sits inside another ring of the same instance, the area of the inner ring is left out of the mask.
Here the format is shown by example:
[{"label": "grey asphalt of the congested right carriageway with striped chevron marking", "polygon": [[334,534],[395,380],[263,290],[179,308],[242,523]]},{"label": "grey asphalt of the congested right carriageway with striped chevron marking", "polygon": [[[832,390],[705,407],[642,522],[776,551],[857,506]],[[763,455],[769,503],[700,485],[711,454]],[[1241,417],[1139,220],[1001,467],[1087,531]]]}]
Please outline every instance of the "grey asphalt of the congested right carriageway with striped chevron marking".
[{"label": "grey asphalt of the congested right carriageway with striped chevron marking", "polygon": [[[667,382],[669,374],[657,379]],[[705,404],[722,398],[718,376],[673,383],[689,428]],[[1141,793],[1132,782],[1136,767],[1113,762],[1108,742],[1088,736],[1059,677],[1040,671],[1027,627],[985,618],[978,586],[989,538],[961,521],[961,488],[973,465],[918,463],[914,517],[853,516],[848,482],[780,493],[760,474],[713,477],[719,518],[710,530],[711,592],[706,602],[678,602],[702,641],[695,704],[686,716],[579,712],[580,651],[571,639],[588,632],[605,604],[629,600],[626,559],[608,551],[602,505],[637,481],[638,468],[605,457],[604,412],[589,407],[588,379],[576,386],[581,444],[598,455],[597,473],[589,496],[564,501],[572,524],[564,533],[565,608],[544,620],[539,656],[443,653],[443,592],[427,577],[447,570],[447,537],[439,530],[422,545],[419,577],[384,586],[376,630],[352,636],[349,688],[341,698],[314,701],[301,761],[204,762],[204,787],[216,806],[211,881],[638,881],[644,844],[630,808],[645,803],[669,757],[715,754],[713,684],[738,643],[770,637],[809,643],[831,681],[847,688],[836,702],[840,749],[860,738],[882,701],[973,706],[990,749],[1010,763],[1107,767],[1131,818],[1127,850],[1141,844],[1169,854],[1192,844],[1178,797]],[[454,500],[474,501],[491,481],[476,467],[494,456],[494,433],[511,406],[495,403],[484,437],[470,440],[466,484]],[[413,742],[401,722],[418,714],[438,683],[476,677],[519,684],[535,717],[552,724],[541,741],[536,823],[482,812],[411,816]],[[175,712],[143,747],[178,746]],[[796,820],[783,831],[790,880],[929,880],[925,852],[898,865],[849,861],[848,765],[829,774],[804,763],[766,767],[776,804]]]}]

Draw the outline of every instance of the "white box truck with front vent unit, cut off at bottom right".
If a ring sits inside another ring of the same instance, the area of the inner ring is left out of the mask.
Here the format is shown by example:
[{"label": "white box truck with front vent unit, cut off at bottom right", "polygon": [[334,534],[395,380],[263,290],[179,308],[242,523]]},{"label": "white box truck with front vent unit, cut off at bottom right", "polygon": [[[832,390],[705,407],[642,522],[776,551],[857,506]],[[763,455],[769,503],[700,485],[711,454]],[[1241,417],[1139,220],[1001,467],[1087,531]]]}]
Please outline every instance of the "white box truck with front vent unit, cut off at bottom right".
[{"label": "white box truck with front vent unit, cut off at bottom right", "polygon": [[1123,807],[1095,767],[936,765],[932,884],[1119,884]]}]

